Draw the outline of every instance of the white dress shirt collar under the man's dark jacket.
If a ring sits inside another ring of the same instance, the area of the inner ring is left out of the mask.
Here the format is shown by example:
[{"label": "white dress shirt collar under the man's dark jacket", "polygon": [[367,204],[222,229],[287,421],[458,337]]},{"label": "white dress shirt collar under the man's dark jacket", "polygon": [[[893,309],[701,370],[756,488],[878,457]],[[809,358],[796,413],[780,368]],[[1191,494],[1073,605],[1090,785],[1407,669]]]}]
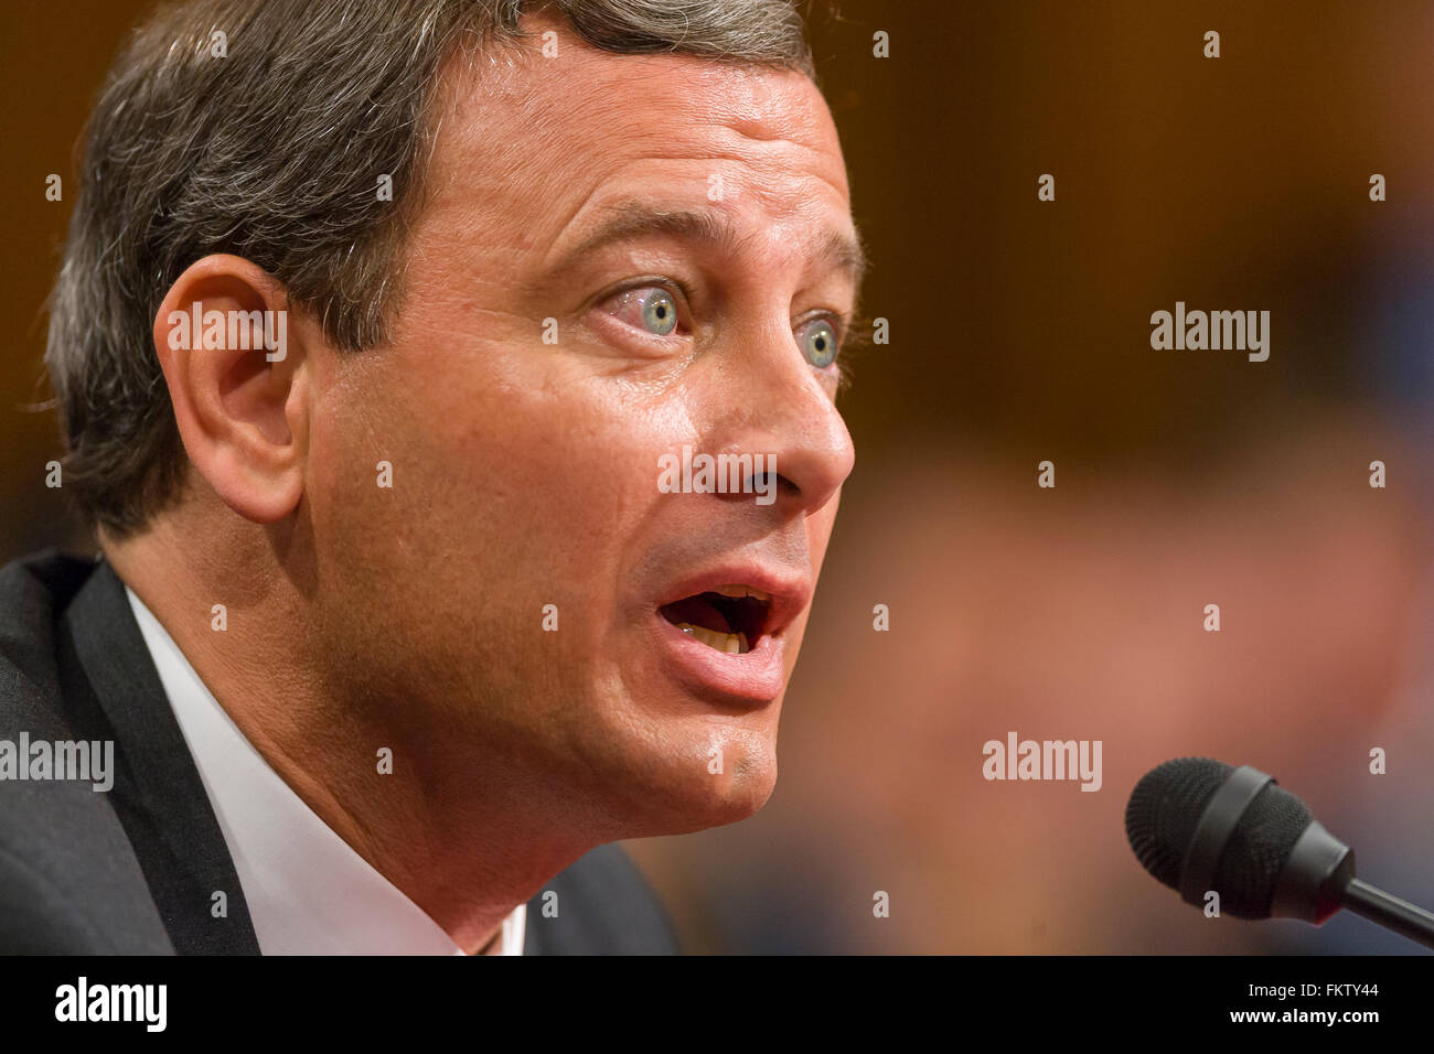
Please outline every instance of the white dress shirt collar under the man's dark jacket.
[{"label": "white dress shirt collar under the man's dark jacket", "polygon": [[[274,771],[126,585],[265,955],[462,955],[437,922],[380,875]],[[503,919],[498,955],[523,954],[528,905]]]}]

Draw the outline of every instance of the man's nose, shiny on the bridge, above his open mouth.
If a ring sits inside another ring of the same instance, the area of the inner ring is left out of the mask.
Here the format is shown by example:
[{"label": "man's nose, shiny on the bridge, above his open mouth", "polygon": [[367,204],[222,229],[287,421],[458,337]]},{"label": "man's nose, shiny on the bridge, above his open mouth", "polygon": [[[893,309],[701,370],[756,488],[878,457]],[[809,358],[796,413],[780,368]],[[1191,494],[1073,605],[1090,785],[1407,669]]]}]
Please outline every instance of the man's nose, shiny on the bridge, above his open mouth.
[{"label": "man's nose, shiny on the bridge, above his open mouth", "polygon": [[743,328],[741,347],[728,360],[734,369],[724,384],[720,446],[767,455],[766,485],[776,488],[776,506],[787,515],[816,512],[856,460],[830,381],[806,361],[783,320],[760,331]]}]

